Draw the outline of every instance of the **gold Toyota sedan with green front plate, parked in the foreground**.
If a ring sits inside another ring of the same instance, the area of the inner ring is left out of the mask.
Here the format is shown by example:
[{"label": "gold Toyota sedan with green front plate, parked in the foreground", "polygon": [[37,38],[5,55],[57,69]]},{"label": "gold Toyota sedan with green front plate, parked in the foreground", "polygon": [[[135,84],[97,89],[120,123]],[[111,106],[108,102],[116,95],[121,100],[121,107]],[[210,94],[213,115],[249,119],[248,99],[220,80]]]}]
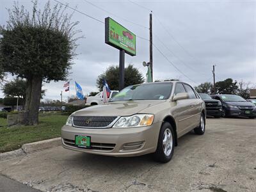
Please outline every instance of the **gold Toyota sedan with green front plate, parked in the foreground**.
[{"label": "gold Toyota sedan with green front plate, parked in the foreground", "polygon": [[72,113],[61,128],[64,148],[104,156],[172,159],[178,138],[205,132],[205,103],[187,83],[128,86],[108,103]]}]

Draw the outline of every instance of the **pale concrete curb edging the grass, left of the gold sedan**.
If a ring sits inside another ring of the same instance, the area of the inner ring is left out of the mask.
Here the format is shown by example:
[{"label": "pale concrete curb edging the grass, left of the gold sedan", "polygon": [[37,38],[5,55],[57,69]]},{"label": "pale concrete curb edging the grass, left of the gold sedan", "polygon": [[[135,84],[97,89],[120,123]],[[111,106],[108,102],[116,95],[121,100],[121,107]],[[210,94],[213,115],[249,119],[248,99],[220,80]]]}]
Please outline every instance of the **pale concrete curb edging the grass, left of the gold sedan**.
[{"label": "pale concrete curb edging the grass, left of the gold sedan", "polygon": [[47,148],[59,147],[61,145],[61,138],[54,138],[51,140],[36,141],[34,143],[26,143],[22,145],[21,148],[17,150],[12,150],[10,152],[0,153],[0,162],[6,161],[8,159],[13,159],[15,157],[23,156],[28,153],[36,152],[38,150],[44,150]]}]

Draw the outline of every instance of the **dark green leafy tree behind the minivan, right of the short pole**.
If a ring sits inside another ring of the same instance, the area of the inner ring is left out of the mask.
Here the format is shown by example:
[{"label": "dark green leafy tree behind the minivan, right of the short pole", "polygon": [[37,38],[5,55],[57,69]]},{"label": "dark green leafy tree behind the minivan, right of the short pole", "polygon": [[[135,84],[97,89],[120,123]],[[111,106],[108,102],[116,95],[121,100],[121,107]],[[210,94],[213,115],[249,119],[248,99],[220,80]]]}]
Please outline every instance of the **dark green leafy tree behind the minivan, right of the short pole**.
[{"label": "dark green leafy tree behind the minivan, right of the short pole", "polygon": [[238,90],[237,81],[228,78],[224,81],[218,81],[216,83],[216,93],[219,94],[236,94]]}]

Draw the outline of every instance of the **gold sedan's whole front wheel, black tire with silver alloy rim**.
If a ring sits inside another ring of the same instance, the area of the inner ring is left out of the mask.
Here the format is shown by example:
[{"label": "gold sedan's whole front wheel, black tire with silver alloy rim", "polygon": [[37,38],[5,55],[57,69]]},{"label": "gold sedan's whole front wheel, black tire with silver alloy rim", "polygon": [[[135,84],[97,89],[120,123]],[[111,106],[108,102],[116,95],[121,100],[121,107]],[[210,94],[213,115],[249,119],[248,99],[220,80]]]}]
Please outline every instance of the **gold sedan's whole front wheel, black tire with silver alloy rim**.
[{"label": "gold sedan's whole front wheel, black tire with silver alloy rim", "polygon": [[[166,140],[166,144],[163,141]],[[167,163],[172,159],[173,152],[175,146],[175,134],[173,131],[173,127],[170,123],[164,122],[161,126],[158,142],[157,142],[157,149],[154,153],[155,161],[161,163]]]}]

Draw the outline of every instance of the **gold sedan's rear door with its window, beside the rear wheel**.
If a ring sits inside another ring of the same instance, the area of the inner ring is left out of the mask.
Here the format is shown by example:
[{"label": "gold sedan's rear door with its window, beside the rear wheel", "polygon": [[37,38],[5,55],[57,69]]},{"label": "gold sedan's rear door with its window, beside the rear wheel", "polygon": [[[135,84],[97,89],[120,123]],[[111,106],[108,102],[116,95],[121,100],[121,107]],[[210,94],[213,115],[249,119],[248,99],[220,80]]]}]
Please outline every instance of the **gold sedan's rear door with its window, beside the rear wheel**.
[{"label": "gold sedan's rear door with its window, beside the rear wheel", "polygon": [[200,117],[201,117],[201,111],[202,111],[202,100],[196,95],[195,91],[193,88],[189,85],[184,83],[184,87],[186,89],[186,92],[189,95],[189,106],[188,106],[188,130],[190,131],[191,129],[197,127],[200,124]]}]

